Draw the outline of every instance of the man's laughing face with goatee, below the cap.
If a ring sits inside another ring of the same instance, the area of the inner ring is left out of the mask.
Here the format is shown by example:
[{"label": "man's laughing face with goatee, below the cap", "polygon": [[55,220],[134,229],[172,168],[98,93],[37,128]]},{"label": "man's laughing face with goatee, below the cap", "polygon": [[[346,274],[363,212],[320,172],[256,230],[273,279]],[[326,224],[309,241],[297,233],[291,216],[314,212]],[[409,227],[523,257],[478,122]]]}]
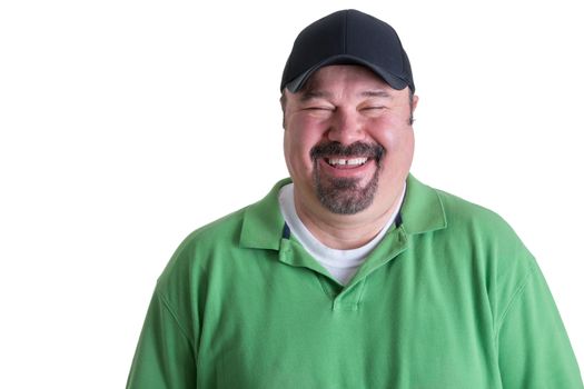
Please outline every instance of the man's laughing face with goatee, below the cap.
[{"label": "man's laughing face with goatee, below the cap", "polygon": [[285,90],[284,152],[297,207],[379,217],[403,190],[414,153],[417,97],[358,66],[316,71]]}]

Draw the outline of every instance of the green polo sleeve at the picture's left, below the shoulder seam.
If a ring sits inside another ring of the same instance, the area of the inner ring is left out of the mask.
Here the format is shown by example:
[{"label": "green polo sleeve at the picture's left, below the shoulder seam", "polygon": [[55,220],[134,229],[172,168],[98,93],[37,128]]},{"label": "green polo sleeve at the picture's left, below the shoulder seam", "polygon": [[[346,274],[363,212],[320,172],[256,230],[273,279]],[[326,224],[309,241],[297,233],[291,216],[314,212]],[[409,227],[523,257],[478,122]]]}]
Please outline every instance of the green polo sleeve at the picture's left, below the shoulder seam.
[{"label": "green polo sleeve at the picture's left, below the shoulder seam", "polygon": [[196,358],[187,333],[164,295],[155,291],[126,388],[196,388]]}]

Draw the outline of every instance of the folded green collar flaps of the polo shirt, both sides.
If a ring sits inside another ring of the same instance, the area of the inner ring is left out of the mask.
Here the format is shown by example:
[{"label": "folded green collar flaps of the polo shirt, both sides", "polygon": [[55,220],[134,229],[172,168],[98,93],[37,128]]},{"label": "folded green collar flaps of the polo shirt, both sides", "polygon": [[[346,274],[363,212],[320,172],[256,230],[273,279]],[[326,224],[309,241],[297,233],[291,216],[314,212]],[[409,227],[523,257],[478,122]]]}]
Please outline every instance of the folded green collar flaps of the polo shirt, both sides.
[{"label": "folded green collar flaps of the polo shirt, both sides", "polygon": [[[289,178],[277,182],[264,199],[246,208],[239,239],[241,247],[279,250],[285,222],[279,210],[278,193],[281,187],[290,182]],[[399,216],[402,228],[407,235],[429,232],[447,226],[438,192],[412,174],[407,178]]]}]

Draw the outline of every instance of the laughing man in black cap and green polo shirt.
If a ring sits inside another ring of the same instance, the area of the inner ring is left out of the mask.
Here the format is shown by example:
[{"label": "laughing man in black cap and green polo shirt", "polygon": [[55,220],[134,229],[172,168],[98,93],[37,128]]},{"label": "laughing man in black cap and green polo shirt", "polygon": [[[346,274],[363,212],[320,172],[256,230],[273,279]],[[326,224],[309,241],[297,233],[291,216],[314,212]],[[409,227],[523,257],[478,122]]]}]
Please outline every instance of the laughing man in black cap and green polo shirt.
[{"label": "laughing man in black cap and green polo shirt", "polygon": [[189,236],[128,388],[582,388],[535,260],[495,213],[409,174],[392,27],[335,12],[283,74],[291,181]]}]

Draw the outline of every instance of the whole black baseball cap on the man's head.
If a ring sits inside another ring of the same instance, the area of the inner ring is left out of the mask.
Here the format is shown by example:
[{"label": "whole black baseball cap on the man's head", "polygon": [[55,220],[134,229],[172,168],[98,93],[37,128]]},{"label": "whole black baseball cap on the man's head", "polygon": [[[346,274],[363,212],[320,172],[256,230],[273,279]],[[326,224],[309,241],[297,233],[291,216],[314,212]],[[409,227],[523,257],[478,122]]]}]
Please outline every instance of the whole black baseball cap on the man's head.
[{"label": "whole black baseball cap on the man's head", "polygon": [[280,91],[287,88],[296,93],[328,64],[360,64],[394,89],[415,90],[409,60],[393,27],[357,10],[330,13],[300,31],[281,74]]}]

